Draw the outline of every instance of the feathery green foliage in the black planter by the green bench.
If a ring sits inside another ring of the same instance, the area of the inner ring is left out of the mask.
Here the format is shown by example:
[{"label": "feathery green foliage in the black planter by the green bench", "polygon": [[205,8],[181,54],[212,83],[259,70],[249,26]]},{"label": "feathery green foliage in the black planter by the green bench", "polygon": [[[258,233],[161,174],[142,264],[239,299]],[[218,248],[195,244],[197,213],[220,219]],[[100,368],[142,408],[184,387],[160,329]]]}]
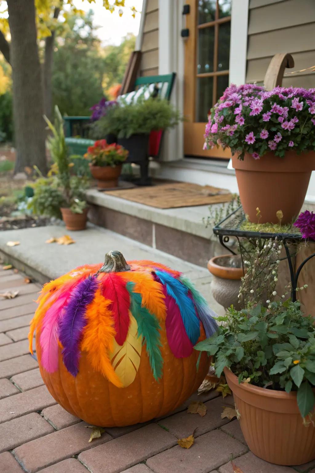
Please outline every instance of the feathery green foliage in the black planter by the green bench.
[{"label": "feathery green foliage in the black planter by the green bench", "polygon": [[113,133],[118,138],[129,138],[134,134],[149,134],[153,130],[172,128],[181,120],[179,111],[170,102],[158,97],[131,104],[121,102],[95,122],[94,136]]}]

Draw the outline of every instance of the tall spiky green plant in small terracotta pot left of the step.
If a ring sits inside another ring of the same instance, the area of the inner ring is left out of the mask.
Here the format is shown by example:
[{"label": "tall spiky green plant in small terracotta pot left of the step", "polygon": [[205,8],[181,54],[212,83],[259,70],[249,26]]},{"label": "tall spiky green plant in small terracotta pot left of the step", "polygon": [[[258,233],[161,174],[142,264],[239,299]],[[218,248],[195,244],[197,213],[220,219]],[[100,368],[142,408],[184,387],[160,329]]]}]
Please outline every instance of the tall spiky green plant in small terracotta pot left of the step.
[{"label": "tall spiky green plant in small terracotta pot left of the step", "polygon": [[51,130],[47,148],[53,164],[47,177],[40,174],[34,184],[34,197],[28,207],[34,213],[62,218],[68,230],[84,230],[87,219],[84,176],[71,175],[71,162],[63,131],[63,120],[58,107],[55,107],[55,124],[44,117]]}]

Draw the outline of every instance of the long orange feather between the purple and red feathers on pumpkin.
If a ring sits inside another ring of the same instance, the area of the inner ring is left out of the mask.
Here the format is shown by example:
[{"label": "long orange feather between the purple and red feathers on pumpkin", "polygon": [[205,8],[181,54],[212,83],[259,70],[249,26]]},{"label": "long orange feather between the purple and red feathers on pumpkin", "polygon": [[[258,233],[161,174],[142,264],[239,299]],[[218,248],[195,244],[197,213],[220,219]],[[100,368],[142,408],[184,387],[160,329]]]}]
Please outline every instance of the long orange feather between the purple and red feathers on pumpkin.
[{"label": "long orange feather between the purple and red feathers on pumpkin", "polygon": [[93,302],[86,307],[87,324],[81,350],[87,352],[87,358],[95,371],[100,371],[113,385],[122,387],[109,357],[116,335],[110,305],[111,301],[102,296],[101,289],[97,289]]}]

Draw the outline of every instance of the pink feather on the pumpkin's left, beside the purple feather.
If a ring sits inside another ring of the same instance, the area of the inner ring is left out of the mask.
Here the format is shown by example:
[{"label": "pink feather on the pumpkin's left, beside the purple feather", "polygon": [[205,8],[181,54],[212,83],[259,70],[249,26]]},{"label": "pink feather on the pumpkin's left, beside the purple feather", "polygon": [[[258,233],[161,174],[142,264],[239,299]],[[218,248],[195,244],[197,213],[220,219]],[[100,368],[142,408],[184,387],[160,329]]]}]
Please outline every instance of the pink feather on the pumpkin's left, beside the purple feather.
[{"label": "pink feather on the pumpkin's left, beside the purple feather", "polygon": [[[72,288],[71,288],[72,289]],[[59,347],[57,341],[58,321],[65,307],[71,290],[63,294],[47,310],[41,327],[40,345],[42,349],[41,363],[49,373],[57,371],[59,366]]]}]

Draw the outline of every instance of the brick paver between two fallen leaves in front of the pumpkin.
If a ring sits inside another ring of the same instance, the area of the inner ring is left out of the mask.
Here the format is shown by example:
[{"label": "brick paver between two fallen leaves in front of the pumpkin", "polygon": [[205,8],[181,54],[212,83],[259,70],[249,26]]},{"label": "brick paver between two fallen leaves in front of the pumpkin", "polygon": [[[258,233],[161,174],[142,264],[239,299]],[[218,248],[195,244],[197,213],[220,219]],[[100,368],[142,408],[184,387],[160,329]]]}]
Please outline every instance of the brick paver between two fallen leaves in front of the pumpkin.
[{"label": "brick paver between two fallen leaves in front of the pumpkin", "polygon": [[106,473],[119,473],[176,443],[177,439],[169,432],[150,424],[87,450],[78,459],[93,473],[103,473],[104,465]]}]

